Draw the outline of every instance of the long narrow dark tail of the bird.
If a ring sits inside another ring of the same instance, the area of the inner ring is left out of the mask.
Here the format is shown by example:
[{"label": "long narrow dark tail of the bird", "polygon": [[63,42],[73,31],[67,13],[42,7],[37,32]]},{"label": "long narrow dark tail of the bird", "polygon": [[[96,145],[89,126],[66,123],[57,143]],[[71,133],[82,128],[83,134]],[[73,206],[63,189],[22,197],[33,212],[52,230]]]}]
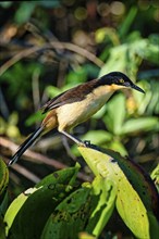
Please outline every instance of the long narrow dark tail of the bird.
[{"label": "long narrow dark tail of the bird", "polygon": [[36,129],[19,148],[17,152],[12,156],[12,159],[9,161],[8,166],[11,166],[14,164],[20,156],[30,147],[36,139],[41,135],[44,131],[44,127],[39,127]]}]

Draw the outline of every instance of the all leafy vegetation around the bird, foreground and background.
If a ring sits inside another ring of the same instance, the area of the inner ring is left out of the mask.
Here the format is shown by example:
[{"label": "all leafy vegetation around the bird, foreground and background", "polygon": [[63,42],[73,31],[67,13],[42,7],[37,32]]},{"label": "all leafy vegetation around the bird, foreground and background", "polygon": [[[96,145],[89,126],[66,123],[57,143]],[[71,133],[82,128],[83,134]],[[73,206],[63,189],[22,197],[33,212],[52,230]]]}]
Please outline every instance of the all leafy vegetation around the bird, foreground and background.
[{"label": "all leafy vegetation around the bird, foreground and background", "polygon": [[[0,239],[157,237],[158,8],[139,0],[0,3]],[[40,124],[49,98],[112,71],[146,93],[119,91],[74,129],[100,148],[77,149],[53,131],[8,171],[4,162]]]}]

